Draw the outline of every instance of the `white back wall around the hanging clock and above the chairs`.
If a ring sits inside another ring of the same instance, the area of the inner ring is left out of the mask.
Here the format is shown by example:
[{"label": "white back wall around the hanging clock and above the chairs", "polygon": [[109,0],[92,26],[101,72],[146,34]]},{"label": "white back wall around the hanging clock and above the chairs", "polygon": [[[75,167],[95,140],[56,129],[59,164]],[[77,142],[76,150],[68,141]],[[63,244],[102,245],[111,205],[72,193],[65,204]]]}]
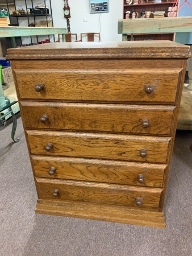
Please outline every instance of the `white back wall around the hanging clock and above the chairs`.
[{"label": "white back wall around the hanging clock and above the chairs", "polygon": [[[77,33],[78,39],[84,32],[101,32],[102,41],[121,41],[122,35],[118,35],[118,19],[123,16],[123,1],[109,0],[109,12],[100,14],[90,14],[89,0],[68,0],[70,7],[70,32]],[[64,1],[51,0],[53,26],[65,27]],[[101,31],[99,16],[101,20]],[[84,22],[83,19],[87,19]]]}]

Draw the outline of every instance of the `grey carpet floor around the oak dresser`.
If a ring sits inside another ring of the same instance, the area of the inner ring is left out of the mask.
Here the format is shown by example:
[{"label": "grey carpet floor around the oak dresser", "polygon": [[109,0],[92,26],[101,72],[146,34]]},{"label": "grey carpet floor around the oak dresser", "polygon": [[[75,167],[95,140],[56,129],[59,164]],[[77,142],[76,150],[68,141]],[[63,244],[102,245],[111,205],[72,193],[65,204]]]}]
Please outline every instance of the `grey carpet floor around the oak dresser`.
[{"label": "grey carpet floor around the oak dresser", "polygon": [[36,191],[21,118],[0,131],[0,255],[192,255],[191,131],[177,131],[165,200],[166,229],[35,214]]}]

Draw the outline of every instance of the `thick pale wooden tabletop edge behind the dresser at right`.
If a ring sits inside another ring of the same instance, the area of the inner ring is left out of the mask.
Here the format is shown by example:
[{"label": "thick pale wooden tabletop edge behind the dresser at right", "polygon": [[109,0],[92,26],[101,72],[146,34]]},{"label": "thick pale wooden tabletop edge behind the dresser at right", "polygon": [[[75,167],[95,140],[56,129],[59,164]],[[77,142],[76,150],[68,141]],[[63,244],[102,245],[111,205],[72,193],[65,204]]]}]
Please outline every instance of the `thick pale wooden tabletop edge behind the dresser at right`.
[{"label": "thick pale wooden tabletop edge behind the dresser at right", "polygon": [[192,17],[118,20],[118,34],[175,32],[192,32]]}]

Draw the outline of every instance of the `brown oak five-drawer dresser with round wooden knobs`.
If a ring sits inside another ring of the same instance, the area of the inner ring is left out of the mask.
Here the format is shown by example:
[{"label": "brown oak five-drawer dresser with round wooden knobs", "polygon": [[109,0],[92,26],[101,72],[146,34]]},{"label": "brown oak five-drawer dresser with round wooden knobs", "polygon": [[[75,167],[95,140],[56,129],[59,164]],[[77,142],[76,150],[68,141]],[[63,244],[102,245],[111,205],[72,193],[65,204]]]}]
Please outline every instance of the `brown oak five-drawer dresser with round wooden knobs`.
[{"label": "brown oak five-drawer dresser with round wooden knobs", "polygon": [[9,49],[37,213],[165,227],[189,56],[170,41]]}]

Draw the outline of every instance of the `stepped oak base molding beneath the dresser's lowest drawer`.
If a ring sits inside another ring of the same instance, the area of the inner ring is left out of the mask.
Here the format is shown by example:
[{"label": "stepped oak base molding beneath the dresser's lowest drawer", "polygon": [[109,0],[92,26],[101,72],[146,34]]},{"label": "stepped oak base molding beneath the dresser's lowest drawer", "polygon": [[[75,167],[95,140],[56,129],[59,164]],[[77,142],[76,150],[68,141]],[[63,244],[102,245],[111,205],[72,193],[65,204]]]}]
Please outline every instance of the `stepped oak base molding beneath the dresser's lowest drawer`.
[{"label": "stepped oak base molding beneath the dresser's lowest drawer", "polygon": [[35,212],[56,216],[151,226],[153,228],[165,228],[166,226],[164,213],[162,212],[135,210],[126,207],[115,207],[114,205],[37,200]]}]

